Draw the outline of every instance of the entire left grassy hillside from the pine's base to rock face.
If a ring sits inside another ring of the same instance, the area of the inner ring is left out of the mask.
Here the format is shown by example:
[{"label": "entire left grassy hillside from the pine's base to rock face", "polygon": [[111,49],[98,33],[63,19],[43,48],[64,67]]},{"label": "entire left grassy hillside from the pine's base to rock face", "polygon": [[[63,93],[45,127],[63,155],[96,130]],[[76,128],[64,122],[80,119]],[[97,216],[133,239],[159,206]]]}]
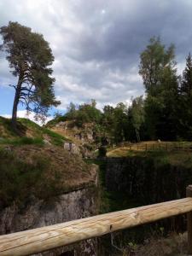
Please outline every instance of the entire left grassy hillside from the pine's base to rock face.
[{"label": "entire left grassy hillside from the pine's base to rock face", "polygon": [[0,209],[13,201],[25,204],[33,195],[49,198],[95,182],[90,166],[63,149],[66,137],[29,119],[18,119],[18,129],[20,135],[11,129],[10,119],[0,117]]}]

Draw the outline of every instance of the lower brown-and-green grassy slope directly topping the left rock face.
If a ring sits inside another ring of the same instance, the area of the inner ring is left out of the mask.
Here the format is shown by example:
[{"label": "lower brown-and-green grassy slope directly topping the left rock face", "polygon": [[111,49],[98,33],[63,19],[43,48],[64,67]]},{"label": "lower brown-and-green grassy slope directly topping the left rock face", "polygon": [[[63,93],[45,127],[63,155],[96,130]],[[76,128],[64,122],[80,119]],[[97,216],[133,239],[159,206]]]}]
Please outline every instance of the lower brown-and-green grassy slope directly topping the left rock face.
[{"label": "lower brown-and-green grassy slope directly topping the left rock face", "polygon": [[0,148],[0,209],[32,196],[46,199],[95,182],[96,171],[78,156],[37,145]]}]

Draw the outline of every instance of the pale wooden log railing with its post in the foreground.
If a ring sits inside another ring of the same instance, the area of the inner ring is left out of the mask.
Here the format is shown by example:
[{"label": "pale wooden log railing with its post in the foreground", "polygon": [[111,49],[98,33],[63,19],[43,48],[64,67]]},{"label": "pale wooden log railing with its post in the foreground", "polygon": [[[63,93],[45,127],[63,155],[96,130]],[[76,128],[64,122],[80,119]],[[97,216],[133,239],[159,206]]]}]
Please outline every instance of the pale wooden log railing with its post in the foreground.
[{"label": "pale wooden log railing with its post in the foreground", "polygon": [[120,212],[110,212],[0,236],[0,255],[16,256],[41,253],[56,247],[154,222],[188,212],[188,249],[192,253],[192,185],[187,197]]}]

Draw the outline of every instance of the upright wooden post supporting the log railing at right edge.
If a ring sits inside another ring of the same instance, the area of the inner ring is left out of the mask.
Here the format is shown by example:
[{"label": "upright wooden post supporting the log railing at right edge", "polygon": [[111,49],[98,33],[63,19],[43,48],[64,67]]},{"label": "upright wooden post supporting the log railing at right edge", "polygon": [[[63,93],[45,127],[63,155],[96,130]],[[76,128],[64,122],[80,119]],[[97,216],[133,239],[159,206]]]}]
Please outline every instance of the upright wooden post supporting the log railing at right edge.
[{"label": "upright wooden post supporting the log railing at right edge", "polygon": [[[186,196],[192,197],[192,185],[186,189]],[[187,213],[187,227],[188,227],[188,253],[192,255],[192,212]]]}]

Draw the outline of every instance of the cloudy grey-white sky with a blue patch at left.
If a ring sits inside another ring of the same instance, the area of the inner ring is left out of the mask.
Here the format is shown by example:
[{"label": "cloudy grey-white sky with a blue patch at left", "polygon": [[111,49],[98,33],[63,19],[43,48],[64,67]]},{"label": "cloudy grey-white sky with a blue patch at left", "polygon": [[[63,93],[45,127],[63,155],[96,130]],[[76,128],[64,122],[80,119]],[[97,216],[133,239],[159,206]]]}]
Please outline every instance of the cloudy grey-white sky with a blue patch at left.
[{"label": "cloudy grey-white sky with a blue patch at left", "polygon": [[[149,38],[175,44],[178,73],[192,51],[191,0],[0,0],[0,26],[29,26],[49,42],[57,109],[96,99],[97,107],[130,102],[144,94],[139,55]],[[12,111],[15,84],[0,53],[0,115]],[[19,116],[25,111],[19,106]],[[32,118],[32,115],[31,115]]]}]

